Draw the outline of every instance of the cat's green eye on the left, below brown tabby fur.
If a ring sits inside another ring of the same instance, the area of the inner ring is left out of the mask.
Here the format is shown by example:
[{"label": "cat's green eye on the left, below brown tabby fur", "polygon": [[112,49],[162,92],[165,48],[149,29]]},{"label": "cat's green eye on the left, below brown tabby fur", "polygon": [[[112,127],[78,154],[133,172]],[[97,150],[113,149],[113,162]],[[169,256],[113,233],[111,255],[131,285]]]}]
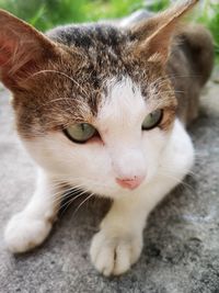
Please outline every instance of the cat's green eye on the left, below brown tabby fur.
[{"label": "cat's green eye on the left, below brown tabby fur", "polygon": [[66,136],[74,143],[84,144],[96,134],[96,129],[88,123],[78,123],[64,131]]}]

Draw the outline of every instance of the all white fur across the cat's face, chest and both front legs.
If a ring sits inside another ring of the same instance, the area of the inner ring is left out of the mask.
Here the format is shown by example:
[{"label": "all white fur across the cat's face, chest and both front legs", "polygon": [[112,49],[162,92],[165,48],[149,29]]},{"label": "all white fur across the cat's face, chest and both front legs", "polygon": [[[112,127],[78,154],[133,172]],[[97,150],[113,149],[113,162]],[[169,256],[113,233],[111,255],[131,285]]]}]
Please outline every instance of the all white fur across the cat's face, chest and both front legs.
[{"label": "all white fur across the cat's face, chest and both front legs", "polygon": [[[44,179],[31,203],[16,216],[19,222],[9,222],[5,239],[12,251],[27,250],[47,236],[48,214],[53,218],[57,211],[53,206],[51,181],[62,180],[114,200],[92,240],[90,253],[95,268],[105,275],[120,274],[139,258],[148,214],[188,172],[194,150],[177,120],[170,133],[158,127],[141,131],[153,105],[143,101],[130,79],[108,81],[108,92],[94,122],[103,142],[78,145],[58,132],[24,142],[43,168]],[[115,180],[131,176],[146,176],[132,191],[123,189]]]}]

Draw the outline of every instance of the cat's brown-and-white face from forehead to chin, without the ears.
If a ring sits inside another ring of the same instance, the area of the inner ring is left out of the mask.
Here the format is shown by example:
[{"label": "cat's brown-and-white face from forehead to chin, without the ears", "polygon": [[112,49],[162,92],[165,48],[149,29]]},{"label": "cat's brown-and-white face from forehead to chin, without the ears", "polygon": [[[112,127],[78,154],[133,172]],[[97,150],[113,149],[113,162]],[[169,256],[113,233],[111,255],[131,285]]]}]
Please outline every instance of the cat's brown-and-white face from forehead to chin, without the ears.
[{"label": "cat's brown-and-white face from forehead to chin, without the ears", "polygon": [[83,59],[66,53],[14,99],[32,157],[56,179],[111,198],[134,193],[157,174],[176,104],[162,66],[131,56],[124,40],[104,53],[102,41],[81,46]]}]

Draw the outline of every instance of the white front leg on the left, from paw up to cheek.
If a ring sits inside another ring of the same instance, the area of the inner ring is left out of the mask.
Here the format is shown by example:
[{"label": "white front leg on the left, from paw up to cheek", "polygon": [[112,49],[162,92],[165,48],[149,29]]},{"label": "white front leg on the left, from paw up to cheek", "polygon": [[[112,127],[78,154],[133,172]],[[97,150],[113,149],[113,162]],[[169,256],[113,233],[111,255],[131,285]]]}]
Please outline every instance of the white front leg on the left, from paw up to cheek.
[{"label": "white front leg on the left, from paw up to cheek", "polygon": [[54,188],[51,179],[38,172],[36,191],[25,209],[9,221],[4,240],[12,252],[24,252],[41,245],[51,229],[58,212],[61,191]]}]

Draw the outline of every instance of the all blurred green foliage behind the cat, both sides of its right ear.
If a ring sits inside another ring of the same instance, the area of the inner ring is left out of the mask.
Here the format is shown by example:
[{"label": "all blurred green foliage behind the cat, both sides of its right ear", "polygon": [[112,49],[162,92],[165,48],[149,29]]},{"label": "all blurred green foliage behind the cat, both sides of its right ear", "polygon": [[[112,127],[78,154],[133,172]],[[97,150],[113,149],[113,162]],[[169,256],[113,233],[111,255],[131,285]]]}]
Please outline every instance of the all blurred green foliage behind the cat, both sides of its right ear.
[{"label": "all blurred green foliage behind the cat, both sides of its right ear", "polygon": [[[197,21],[211,31],[219,60],[219,3],[217,2],[205,0],[201,16]],[[0,0],[0,8],[41,31],[65,23],[122,18],[142,8],[160,11],[169,4],[170,0]]]}]

